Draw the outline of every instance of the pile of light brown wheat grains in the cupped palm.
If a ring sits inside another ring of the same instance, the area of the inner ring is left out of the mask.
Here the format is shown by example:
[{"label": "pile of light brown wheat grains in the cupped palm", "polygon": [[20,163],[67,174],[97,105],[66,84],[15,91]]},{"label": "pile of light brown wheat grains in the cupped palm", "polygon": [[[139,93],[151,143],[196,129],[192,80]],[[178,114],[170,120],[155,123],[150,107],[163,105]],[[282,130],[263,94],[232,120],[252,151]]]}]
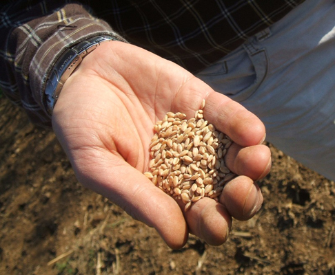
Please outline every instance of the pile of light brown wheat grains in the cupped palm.
[{"label": "pile of light brown wheat grains in the cupped palm", "polygon": [[236,175],[225,166],[224,156],[232,144],[203,118],[169,112],[156,122],[150,144],[150,171],[145,175],[167,194],[182,199],[185,210],[203,197],[218,199],[223,186]]}]

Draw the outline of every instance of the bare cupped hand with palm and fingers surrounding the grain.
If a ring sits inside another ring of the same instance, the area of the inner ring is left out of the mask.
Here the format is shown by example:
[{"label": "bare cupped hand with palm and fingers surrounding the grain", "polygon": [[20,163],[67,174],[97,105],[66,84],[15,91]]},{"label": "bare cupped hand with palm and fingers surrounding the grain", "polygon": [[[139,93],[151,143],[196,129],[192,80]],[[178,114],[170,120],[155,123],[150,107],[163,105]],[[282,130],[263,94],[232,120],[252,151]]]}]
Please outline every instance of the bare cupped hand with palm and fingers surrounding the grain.
[{"label": "bare cupped hand with palm and fingers surrounding the grain", "polygon": [[[143,173],[156,121],[168,111],[191,118],[203,99],[205,119],[234,141],[225,162],[239,176],[219,202],[203,198],[183,212],[183,202]],[[66,81],[52,125],[79,181],[154,227],[170,248],[182,248],[189,233],[221,245],[232,217],[250,219],[263,203],[254,183],[271,166],[270,150],[261,144],[263,123],[185,69],[134,45],[103,43],[88,54]]]}]

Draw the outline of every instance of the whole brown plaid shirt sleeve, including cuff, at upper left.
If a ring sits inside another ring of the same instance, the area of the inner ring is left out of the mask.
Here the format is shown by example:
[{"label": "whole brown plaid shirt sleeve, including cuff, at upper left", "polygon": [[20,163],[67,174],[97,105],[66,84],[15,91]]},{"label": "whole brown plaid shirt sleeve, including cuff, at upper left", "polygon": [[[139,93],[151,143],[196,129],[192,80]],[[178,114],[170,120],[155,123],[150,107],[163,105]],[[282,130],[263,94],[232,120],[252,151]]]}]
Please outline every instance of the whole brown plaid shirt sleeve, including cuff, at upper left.
[{"label": "whole brown plaid shirt sleeve, including cuff, at upper left", "polygon": [[[8,1],[9,2],[9,1]],[[0,87],[40,126],[51,126],[43,87],[57,58],[92,36],[110,34],[110,26],[82,5],[62,1],[11,1],[1,8]]]}]

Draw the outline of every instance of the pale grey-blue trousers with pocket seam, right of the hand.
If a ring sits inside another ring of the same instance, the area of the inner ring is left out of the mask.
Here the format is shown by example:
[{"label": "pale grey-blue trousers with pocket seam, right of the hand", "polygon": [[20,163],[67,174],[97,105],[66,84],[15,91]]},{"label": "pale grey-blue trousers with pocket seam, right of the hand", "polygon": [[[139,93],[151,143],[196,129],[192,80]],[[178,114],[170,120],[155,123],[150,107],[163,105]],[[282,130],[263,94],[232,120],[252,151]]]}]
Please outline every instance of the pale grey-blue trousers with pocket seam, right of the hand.
[{"label": "pale grey-blue trousers with pocket seam, right of the hand", "polygon": [[197,75],[266,126],[267,141],[335,180],[335,1],[307,0]]}]

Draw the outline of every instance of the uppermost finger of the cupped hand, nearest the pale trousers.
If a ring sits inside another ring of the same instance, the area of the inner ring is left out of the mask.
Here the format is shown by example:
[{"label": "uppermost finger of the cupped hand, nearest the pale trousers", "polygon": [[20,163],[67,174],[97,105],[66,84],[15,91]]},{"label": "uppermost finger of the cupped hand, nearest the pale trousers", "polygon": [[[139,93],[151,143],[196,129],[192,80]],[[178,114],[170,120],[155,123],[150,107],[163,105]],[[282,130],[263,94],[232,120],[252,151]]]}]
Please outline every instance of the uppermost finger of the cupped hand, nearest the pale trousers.
[{"label": "uppermost finger of the cupped hand, nearest the pale trousers", "polygon": [[252,112],[238,102],[214,91],[199,78],[183,84],[174,100],[174,110],[192,117],[205,99],[203,115],[216,129],[228,135],[236,144],[252,146],[265,140],[265,126]]}]

